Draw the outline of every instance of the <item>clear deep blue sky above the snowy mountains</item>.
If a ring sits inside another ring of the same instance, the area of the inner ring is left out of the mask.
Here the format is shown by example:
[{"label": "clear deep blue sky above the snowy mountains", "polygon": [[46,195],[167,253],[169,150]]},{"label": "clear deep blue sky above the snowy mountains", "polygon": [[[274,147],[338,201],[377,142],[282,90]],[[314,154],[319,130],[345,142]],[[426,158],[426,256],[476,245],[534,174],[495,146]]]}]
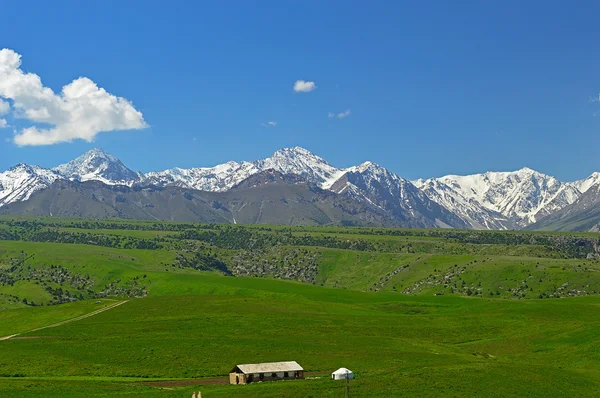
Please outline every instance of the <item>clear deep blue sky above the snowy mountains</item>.
[{"label": "clear deep blue sky above the snowy mountains", "polygon": [[[0,48],[22,71],[55,93],[87,77],[149,127],[19,146],[14,129],[32,122],[9,114],[0,169],[97,146],[151,171],[299,145],[411,179],[600,170],[597,1],[250,3],[2,1]],[[294,92],[297,80],[317,88]]]}]

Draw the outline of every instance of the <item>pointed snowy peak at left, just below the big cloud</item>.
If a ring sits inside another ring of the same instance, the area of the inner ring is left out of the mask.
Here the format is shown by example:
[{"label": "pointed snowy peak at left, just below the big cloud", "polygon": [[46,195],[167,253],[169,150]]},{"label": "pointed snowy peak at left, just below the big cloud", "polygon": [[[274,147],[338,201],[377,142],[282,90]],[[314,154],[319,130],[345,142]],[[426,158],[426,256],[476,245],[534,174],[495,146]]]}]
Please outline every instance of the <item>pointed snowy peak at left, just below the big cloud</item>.
[{"label": "pointed snowy peak at left, just below the big cloud", "polygon": [[131,185],[140,180],[138,173],[100,148],[92,149],[53,170],[70,180],[101,181],[107,185]]}]

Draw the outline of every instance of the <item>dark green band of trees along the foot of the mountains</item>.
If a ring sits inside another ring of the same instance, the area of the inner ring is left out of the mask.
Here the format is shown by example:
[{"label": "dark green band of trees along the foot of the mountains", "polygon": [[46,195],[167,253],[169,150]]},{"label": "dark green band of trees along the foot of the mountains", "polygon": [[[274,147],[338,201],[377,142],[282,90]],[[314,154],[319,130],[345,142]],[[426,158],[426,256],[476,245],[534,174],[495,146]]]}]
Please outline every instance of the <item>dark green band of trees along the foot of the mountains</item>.
[{"label": "dark green band of trees along the foot of the mountains", "polygon": [[[373,252],[432,252],[448,254],[492,254],[515,252],[526,246],[543,256],[582,258],[600,246],[598,238],[584,235],[542,234],[528,231],[473,231],[456,229],[384,229],[332,227],[233,226],[170,222],[122,222],[115,220],[0,220],[9,228],[0,228],[0,240],[82,243],[97,246],[149,249],[177,248],[181,239],[190,239],[231,250],[261,250],[275,245],[319,246]],[[66,232],[58,228],[87,230],[153,230],[179,232],[175,236],[142,239],[122,235]],[[322,232],[328,233],[327,235]],[[339,233],[339,235],[333,235]],[[346,236],[346,238],[344,238]],[[361,236],[370,236],[362,238]],[[401,242],[373,239],[373,236],[434,238],[431,242]],[[173,237],[175,239],[173,239]],[[348,239],[350,238],[350,239]],[[455,245],[453,245],[455,244]],[[474,248],[469,245],[480,246]],[[495,249],[485,248],[494,246]],[[502,246],[506,246],[502,248]],[[510,255],[510,254],[508,254]]]}]

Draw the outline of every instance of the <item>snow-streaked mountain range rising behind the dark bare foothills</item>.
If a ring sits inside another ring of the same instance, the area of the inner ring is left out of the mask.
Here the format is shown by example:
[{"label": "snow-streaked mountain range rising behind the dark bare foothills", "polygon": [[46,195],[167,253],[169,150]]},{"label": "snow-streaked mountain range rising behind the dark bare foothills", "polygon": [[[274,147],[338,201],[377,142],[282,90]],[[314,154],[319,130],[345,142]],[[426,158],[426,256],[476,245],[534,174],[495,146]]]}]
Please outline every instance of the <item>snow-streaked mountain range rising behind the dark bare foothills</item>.
[{"label": "snow-streaked mountain range rising behind the dark bare foothills", "polygon": [[[142,174],[101,149],[93,149],[54,169],[22,164],[0,173],[0,207],[29,200],[60,181],[73,183],[56,185],[63,189],[96,181],[138,190],[179,188],[225,193],[234,187],[240,189],[241,184],[252,181],[250,177],[264,178],[266,172],[294,175],[300,179],[294,184],[308,184],[309,190],[319,188],[342,196],[369,211],[377,209],[387,217],[380,224],[411,227],[519,229],[538,225],[580,200],[591,206],[593,201],[589,198],[600,186],[600,173],[565,183],[528,168],[408,181],[373,162],[336,168],[300,147],[281,149],[268,158],[251,162],[231,161],[214,167]],[[289,178],[286,184],[292,185]],[[588,191],[592,193],[587,195]],[[288,211],[292,208],[288,207]]]}]

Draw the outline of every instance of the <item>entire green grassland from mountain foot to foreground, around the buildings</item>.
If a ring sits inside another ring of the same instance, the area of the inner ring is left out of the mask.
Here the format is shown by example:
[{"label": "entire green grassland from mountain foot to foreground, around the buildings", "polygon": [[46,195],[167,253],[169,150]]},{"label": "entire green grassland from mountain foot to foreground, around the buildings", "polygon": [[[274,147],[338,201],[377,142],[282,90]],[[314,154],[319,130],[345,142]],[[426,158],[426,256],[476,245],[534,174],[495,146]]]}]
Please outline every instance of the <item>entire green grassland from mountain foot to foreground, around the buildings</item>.
[{"label": "entire green grassland from mountain foot to foreground, around the buildings", "polygon": [[[597,235],[56,219],[0,231],[0,338],[18,334],[0,341],[2,397],[343,397],[339,367],[358,375],[352,396],[600,390]],[[307,379],[224,384],[236,364],[285,360]]]}]

